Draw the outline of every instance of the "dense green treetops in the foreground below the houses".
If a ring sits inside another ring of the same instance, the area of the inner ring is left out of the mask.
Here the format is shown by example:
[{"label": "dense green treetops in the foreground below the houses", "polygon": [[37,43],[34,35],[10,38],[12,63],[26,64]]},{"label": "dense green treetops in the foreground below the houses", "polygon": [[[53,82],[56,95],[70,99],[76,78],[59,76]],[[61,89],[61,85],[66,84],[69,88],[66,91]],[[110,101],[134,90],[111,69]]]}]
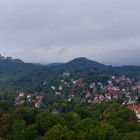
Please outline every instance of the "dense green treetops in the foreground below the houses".
[{"label": "dense green treetops in the foreground below the houses", "polygon": [[0,101],[0,140],[139,140],[135,114],[116,102],[51,112]]}]

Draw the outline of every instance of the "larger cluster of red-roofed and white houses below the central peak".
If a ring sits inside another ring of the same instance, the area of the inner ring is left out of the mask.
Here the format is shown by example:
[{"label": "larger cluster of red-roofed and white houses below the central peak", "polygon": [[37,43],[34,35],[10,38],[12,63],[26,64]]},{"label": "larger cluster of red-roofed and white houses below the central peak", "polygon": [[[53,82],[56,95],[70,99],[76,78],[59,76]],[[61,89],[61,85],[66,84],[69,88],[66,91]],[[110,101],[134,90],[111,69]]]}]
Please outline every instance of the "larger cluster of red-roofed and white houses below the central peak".
[{"label": "larger cluster of red-roofed and white houses below the central peak", "polygon": [[86,83],[83,78],[72,79],[70,74],[67,75],[67,78],[62,78],[60,80],[59,86],[51,86],[54,94],[61,96],[63,93],[64,87],[70,87],[68,101],[71,101],[72,98],[77,96],[77,89],[80,89],[81,101],[83,103],[93,103],[99,104],[105,101],[111,101],[114,99],[122,100],[122,104],[133,104],[138,96],[133,95],[133,93],[140,94],[140,81],[134,82],[133,79],[130,79],[126,76],[110,76],[109,80],[104,85],[102,82],[92,82]]}]

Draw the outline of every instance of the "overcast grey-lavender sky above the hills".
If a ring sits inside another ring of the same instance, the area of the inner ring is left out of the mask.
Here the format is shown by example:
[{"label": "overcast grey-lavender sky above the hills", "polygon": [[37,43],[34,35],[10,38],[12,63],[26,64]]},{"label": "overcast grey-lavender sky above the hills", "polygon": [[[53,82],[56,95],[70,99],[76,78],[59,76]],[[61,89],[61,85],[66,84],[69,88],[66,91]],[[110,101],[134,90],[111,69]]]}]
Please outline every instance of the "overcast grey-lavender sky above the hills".
[{"label": "overcast grey-lavender sky above the hills", "polygon": [[140,0],[0,0],[0,53],[140,65]]}]

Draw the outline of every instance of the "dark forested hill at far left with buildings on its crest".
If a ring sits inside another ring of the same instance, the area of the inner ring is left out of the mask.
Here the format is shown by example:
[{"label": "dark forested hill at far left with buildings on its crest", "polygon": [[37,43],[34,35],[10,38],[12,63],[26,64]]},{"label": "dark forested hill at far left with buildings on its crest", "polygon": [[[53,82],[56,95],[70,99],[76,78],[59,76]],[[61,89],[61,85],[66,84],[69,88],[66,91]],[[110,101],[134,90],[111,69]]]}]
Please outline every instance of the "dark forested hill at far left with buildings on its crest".
[{"label": "dark forested hill at far left with buildings on its crest", "polygon": [[0,59],[0,81],[16,81],[42,71],[44,66],[24,63],[19,59]]}]

